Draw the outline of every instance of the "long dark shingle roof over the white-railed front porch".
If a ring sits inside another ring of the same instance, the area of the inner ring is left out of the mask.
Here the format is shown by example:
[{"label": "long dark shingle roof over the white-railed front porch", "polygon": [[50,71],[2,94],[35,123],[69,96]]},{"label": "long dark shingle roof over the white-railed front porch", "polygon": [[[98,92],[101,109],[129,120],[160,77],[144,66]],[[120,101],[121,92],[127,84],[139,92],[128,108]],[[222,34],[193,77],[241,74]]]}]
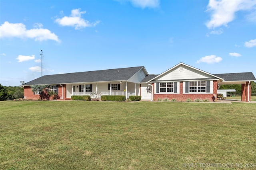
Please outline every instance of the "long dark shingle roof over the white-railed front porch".
[{"label": "long dark shingle roof over the white-railed front porch", "polygon": [[39,85],[39,84],[67,84],[67,83],[82,83],[82,82],[110,82],[110,81],[125,81],[131,78],[138,71],[145,72],[144,66],[116,68],[109,70],[97,70],[87,72],[74,72],[66,74],[47,75],[32,80],[23,84],[23,86]]}]

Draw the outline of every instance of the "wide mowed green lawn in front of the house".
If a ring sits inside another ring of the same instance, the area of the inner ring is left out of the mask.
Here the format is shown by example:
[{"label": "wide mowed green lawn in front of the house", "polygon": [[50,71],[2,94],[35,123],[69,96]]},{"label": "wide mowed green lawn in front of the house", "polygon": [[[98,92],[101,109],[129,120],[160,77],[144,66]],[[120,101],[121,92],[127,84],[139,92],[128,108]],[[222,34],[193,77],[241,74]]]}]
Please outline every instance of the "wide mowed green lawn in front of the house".
[{"label": "wide mowed green lawn in front of the house", "polygon": [[253,103],[0,102],[0,169],[255,169],[255,160]]}]

